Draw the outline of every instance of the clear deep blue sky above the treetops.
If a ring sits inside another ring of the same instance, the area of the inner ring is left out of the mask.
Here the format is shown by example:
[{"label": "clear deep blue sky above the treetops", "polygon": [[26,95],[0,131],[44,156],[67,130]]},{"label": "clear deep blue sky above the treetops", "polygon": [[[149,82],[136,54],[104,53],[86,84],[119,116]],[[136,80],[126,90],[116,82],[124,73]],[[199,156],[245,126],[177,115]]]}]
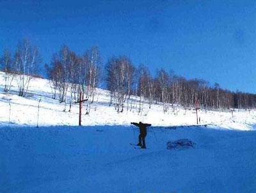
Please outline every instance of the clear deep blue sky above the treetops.
[{"label": "clear deep blue sky above the treetops", "polygon": [[256,93],[255,0],[0,0],[0,52],[22,38],[49,63],[64,43]]}]

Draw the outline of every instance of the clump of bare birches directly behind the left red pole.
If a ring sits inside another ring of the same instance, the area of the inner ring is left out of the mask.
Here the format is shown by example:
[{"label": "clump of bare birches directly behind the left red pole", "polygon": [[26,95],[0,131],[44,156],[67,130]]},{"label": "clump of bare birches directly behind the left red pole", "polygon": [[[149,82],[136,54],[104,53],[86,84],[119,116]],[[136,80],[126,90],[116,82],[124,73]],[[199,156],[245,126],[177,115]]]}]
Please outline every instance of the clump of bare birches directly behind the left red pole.
[{"label": "clump of bare birches directly behind the left red pole", "polygon": [[100,82],[101,66],[102,60],[97,46],[92,46],[83,55],[77,55],[68,46],[63,46],[52,56],[51,65],[45,66],[53,90],[53,98],[58,97],[60,103],[65,103],[66,107],[69,91],[68,111],[71,111],[72,103],[79,99],[79,93],[82,92],[83,98],[88,99],[86,113],[89,113],[96,87]]}]

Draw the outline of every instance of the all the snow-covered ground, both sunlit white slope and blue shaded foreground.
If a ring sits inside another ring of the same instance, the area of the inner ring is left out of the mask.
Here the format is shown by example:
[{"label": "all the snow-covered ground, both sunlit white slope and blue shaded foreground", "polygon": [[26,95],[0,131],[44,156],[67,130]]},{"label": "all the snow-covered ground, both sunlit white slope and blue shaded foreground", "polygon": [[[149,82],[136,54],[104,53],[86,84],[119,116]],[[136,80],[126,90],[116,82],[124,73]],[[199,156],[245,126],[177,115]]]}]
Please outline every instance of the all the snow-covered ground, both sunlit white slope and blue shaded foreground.
[{"label": "all the snow-covered ground, both sunlit white slope and blue shaded foreground", "polygon": [[[132,111],[116,113],[108,91],[97,89],[79,127],[78,105],[64,112],[48,80],[33,78],[26,97],[15,82],[10,93],[3,86],[0,73],[0,192],[256,192],[255,110],[236,110],[234,118],[200,110],[201,126],[188,127],[194,110],[144,104],[139,114],[133,97]],[[130,122],[139,121],[152,124],[147,149],[129,144],[139,132]],[[179,139],[196,145],[167,150]]]}]

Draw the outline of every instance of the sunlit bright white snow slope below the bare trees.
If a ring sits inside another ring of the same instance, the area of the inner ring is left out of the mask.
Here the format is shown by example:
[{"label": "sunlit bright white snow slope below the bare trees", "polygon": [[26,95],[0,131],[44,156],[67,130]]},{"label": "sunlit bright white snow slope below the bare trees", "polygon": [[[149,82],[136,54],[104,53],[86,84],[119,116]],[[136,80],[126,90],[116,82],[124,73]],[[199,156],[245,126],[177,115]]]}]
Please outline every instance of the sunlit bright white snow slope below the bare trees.
[{"label": "sunlit bright white snow slope below the bare trees", "polygon": [[[64,104],[52,99],[49,80],[33,78],[26,97],[17,96],[17,85],[13,81],[10,93],[3,92],[4,80],[3,73],[0,73],[0,123],[8,125],[9,110],[8,104],[11,99],[10,122],[18,125],[35,126],[37,122],[38,100],[40,103],[39,125],[77,125],[79,104],[73,104],[71,112],[63,111]],[[89,115],[83,115],[83,125],[129,125],[130,122],[150,122],[155,126],[170,125],[195,125],[195,110],[184,110],[182,107],[175,106],[175,112],[170,106],[167,113],[163,113],[161,104],[153,104],[148,108],[144,104],[143,112],[138,113],[138,99],[134,98],[134,108],[132,111],[125,110],[117,113],[113,106],[109,106],[109,92],[97,89],[95,102]],[[67,108],[68,110],[68,108]],[[230,112],[220,111],[199,111],[200,124],[211,124],[213,127],[227,129],[251,130],[256,124],[256,111],[236,110],[234,118]]]}]

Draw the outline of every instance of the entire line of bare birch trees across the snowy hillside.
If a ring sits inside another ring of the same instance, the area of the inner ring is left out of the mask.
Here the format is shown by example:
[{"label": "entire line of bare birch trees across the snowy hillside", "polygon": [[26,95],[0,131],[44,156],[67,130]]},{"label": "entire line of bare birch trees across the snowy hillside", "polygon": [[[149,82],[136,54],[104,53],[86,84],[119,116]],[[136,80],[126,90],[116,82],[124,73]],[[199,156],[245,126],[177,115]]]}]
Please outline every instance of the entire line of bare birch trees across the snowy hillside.
[{"label": "entire line of bare birch trees across the snowy hillside", "polygon": [[[8,92],[13,80],[16,80],[19,96],[24,96],[41,62],[38,48],[31,45],[28,39],[20,41],[13,54],[4,50],[0,59],[1,70],[4,71],[4,91]],[[175,110],[176,105],[194,108],[195,103],[205,109],[256,107],[256,94],[231,92],[221,89],[218,83],[212,87],[205,80],[187,80],[165,69],[159,69],[152,76],[147,66],[136,68],[125,56],[111,57],[102,68],[102,57],[97,46],[85,50],[83,55],[62,46],[52,55],[51,64],[45,65],[45,69],[53,98],[65,103],[65,110],[69,102],[69,111],[82,92],[83,99],[88,99],[86,113],[89,113],[100,80],[106,82],[110,92],[109,105],[115,106],[118,112],[124,111],[125,107],[127,110],[133,108],[132,96],[139,97],[138,113],[143,111],[145,104],[150,108],[152,103],[163,104],[164,112],[170,108]]]}]

